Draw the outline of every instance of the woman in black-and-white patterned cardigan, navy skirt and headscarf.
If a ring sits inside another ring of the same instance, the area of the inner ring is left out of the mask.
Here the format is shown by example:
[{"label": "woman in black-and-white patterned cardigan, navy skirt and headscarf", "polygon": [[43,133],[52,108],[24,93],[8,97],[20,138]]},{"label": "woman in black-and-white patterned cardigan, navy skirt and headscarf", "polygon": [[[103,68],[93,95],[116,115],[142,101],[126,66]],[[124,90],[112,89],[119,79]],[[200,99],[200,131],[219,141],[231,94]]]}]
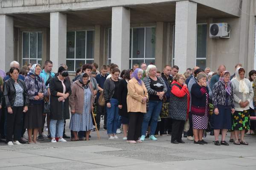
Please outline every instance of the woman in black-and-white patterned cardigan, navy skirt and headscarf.
[{"label": "woman in black-and-white patterned cardigan, navy skirt and headscarf", "polygon": [[[220,80],[215,83],[212,88],[212,103],[214,105],[214,114],[212,115],[212,125],[214,129],[215,142],[219,146],[221,144],[228,146],[225,141],[227,130],[231,129],[231,113],[235,112],[233,100],[233,87],[230,82],[230,73],[223,71]],[[221,130],[221,143],[218,136]]]}]

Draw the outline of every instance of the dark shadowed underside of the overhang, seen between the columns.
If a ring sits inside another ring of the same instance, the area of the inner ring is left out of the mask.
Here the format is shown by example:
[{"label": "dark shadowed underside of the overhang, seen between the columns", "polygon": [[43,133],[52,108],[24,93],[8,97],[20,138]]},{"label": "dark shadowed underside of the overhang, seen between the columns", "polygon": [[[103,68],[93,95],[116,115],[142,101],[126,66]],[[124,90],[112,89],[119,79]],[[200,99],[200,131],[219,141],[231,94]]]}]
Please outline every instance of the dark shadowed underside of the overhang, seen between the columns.
[{"label": "dark shadowed underside of the overhang, seen between the columns", "polygon": [[[113,0],[114,1],[114,0]],[[161,3],[150,3],[140,5],[126,5],[131,9],[131,23],[156,23],[171,22],[175,23],[176,2],[168,1]],[[84,27],[99,25],[111,25],[111,7],[61,11],[67,14],[67,27]],[[19,13],[9,14],[14,17],[15,27],[49,27],[50,14],[44,13]],[[198,3],[197,20],[207,18],[236,17],[232,14],[211,8]]]}]

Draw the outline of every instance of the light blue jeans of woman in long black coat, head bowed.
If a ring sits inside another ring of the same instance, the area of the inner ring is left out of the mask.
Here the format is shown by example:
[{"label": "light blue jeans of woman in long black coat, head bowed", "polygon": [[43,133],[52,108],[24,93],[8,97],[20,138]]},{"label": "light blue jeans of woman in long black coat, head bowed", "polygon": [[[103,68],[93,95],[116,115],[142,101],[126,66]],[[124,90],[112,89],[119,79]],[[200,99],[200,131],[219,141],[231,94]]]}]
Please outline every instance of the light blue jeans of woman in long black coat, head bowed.
[{"label": "light blue jeans of woman in long black coat, head bowed", "polygon": [[[58,135],[56,134],[56,126],[57,126],[57,131],[58,131]],[[62,137],[63,135],[63,130],[64,130],[64,119],[61,120],[50,120],[50,132],[51,132],[51,137],[55,138],[55,137]],[[57,136],[56,136],[57,135]]]}]

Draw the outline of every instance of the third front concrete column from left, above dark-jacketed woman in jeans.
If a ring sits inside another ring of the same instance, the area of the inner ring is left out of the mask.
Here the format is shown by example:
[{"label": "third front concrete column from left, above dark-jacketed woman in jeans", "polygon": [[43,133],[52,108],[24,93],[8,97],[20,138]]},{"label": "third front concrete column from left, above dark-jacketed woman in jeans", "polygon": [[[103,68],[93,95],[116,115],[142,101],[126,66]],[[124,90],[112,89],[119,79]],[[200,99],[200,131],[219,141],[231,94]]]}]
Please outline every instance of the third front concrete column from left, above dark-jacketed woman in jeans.
[{"label": "third front concrete column from left, above dark-jacketed woman in jeans", "polygon": [[111,62],[119,69],[129,68],[130,9],[118,6],[112,8]]}]

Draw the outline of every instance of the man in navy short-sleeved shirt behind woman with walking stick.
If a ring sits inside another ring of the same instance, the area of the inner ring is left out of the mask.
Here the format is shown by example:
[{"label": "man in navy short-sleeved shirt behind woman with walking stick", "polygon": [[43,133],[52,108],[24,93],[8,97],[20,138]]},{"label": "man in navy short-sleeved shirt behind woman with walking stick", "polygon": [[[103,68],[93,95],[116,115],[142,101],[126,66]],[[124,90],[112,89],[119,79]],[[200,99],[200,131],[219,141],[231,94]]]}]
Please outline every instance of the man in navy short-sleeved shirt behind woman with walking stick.
[{"label": "man in navy short-sleeved shirt behind woman with walking stick", "polygon": [[98,104],[98,99],[99,99],[99,95],[100,95],[100,91],[103,91],[103,87],[104,87],[104,82],[105,80],[107,79],[108,77],[108,67],[106,65],[102,65],[101,67],[101,73],[96,75],[95,79],[98,83],[98,88],[99,88],[99,91],[97,93],[97,113],[96,113],[96,124],[97,124],[97,128],[99,129],[100,127],[100,116],[101,115],[104,115],[104,126],[103,126],[103,129],[107,129],[107,111],[106,111],[106,108],[104,106],[100,106]]}]

